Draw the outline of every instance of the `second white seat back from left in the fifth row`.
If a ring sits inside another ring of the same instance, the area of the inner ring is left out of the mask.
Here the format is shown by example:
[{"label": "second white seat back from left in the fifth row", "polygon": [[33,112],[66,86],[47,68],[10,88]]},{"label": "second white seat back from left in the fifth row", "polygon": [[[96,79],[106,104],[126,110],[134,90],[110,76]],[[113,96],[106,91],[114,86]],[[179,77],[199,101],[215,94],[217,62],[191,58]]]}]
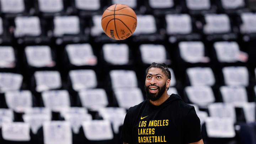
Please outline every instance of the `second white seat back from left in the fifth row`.
[{"label": "second white seat back from left in the fifth row", "polygon": [[45,107],[69,107],[70,99],[67,90],[51,90],[42,92],[43,103]]}]

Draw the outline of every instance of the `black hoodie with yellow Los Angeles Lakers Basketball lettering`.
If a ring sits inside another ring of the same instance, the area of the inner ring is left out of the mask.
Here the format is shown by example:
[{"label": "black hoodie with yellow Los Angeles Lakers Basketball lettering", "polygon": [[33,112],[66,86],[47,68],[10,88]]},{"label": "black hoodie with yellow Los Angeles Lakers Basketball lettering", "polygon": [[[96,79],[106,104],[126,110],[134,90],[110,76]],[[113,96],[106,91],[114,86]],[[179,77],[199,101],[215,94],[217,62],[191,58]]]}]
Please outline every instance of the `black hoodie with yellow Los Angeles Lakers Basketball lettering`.
[{"label": "black hoodie with yellow Los Angeles Lakers Basketball lettering", "polygon": [[121,138],[128,144],[187,144],[202,139],[200,120],[193,106],[172,94],[159,106],[145,100],[130,107]]}]

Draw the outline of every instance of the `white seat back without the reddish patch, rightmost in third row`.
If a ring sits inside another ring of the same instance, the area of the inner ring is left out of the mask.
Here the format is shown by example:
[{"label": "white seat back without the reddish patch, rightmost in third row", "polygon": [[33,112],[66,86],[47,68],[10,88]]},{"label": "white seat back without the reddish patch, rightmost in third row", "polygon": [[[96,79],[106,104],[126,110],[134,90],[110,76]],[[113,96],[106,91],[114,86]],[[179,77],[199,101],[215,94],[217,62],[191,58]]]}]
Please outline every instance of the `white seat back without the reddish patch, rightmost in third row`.
[{"label": "white seat back without the reddish patch, rightmost in third row", "polygon": [[239,56],[239,45],[236,42],[215,42],[213,44],[219,62],[234,63]]}]

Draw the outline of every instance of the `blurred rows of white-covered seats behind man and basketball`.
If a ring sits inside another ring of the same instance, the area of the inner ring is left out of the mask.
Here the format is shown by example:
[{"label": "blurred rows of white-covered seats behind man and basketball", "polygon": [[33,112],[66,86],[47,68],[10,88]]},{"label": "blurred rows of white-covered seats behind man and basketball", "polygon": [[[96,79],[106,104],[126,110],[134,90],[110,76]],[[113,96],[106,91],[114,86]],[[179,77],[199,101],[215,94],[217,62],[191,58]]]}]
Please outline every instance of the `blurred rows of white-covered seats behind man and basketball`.
[{"label": "blurred rows of white-covered seats behind man and basketball", "polygon": [[[138,25],[107,37],[126,4]],[[168,94],[193,105],[204,144],[256,144],[256,1],[0,0],[0,143],[122,144],[145,70],[166,63]]]}]

